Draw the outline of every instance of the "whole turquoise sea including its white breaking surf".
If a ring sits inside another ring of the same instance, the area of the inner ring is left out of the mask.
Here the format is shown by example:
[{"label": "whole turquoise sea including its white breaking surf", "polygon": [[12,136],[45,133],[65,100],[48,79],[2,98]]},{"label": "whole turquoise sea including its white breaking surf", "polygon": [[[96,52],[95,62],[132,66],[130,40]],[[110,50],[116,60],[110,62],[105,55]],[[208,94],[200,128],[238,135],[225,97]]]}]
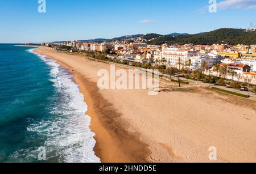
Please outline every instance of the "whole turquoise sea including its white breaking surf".
[{"label": "whole turquoise sea including its white breaking surf", "polygon": [[100,162],[72,74],[13,44],[0,44],[0,74],[0,162]]}]

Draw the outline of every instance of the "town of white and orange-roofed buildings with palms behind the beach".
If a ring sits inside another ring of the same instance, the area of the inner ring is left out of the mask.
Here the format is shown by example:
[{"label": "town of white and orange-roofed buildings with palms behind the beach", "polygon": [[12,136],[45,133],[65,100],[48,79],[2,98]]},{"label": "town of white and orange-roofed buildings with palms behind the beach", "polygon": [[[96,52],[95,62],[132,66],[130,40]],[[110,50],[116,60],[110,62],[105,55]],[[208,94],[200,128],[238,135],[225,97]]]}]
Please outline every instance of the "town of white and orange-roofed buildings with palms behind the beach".
[{"label": "town of white and orange-roofed buildings with palms behind the beach", "polygon": [[[232,81],[256,85],[256,45],[150,45],[143,36],[126,37],[115,41],[67,41],[41,45],[115,63],[159,69],[166,74],[190,74],[194,79],[209,83],[226,79],[228,85]],[[197,71],[203,77],[198,78]]]}]

